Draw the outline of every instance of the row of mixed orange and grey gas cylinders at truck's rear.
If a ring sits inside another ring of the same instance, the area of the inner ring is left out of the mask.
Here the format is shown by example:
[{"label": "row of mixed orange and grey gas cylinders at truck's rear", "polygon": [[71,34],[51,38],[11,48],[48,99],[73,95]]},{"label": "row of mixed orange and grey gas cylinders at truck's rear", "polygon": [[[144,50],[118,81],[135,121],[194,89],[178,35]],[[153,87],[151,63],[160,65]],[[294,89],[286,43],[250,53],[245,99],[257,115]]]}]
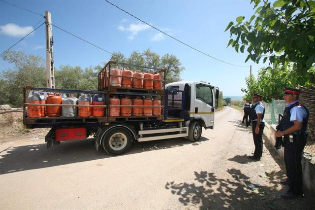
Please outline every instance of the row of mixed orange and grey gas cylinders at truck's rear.
[{"label": "row of mixed orange and grey gas cylinders at truck's rear", "polygon": [[105,115],[105,107],[101,106],[54,106],[54,105],[105,105],[105,97],[103,94],[81,94],[79,98],[62,97],[59,93],[31,92],[28,98],[29,104],[50,104],[30,105],[28,106],[27,116],[30,118],[39,117],[103,117]]}]

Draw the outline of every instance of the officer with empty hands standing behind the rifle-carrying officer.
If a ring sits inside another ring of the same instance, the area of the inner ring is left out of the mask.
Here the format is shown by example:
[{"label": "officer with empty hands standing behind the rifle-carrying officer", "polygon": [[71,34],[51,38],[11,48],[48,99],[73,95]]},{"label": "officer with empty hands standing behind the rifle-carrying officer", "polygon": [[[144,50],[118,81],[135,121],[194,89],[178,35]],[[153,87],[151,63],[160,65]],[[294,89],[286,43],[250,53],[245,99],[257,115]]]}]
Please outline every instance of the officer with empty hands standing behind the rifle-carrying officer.
[{"label": "officer with empty hands standing behind the rifle-carrying officer", "polygon": [[249,158],[254,160],[260,160],[262,156],[262,133],[265,128],[265,107],[260,102],[262,96],[254,93],[252,95],[252,109],[251,109],[251,120],[252,120],[252,137],[255,144],[254,155]]}]

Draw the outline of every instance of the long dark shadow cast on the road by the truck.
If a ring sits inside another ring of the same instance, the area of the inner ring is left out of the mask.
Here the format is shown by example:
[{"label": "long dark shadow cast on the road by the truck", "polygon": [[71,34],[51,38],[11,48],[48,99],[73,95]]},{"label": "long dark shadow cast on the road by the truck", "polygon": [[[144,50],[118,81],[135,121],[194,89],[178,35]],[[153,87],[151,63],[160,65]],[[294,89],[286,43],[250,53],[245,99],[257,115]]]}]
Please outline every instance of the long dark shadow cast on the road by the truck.
[{"label": "long dark shadow cast on the road by the truck", "polygon": [[[185,144],[196,146],[206,140],[208,139],[202,137],[198,142],[191,142],[185,138],[136,142],[124,155],[167,149]],[[103,158],[115,158],[115,156],[107,154],[101,146],[96,151],[94,139],[65,141],[50,149],[46,149],[46,143],[8,147],[0,153],[0,175]]]}]

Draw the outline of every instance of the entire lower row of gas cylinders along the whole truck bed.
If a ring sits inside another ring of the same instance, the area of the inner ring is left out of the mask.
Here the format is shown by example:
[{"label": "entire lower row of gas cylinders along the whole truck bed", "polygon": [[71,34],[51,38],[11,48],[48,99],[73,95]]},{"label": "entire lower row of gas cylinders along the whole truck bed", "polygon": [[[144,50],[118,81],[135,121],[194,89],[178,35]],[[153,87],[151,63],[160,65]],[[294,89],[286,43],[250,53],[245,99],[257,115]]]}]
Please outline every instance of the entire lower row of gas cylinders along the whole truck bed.
[{"label": "entire lower row of gas cylinders along the whole truck bed", "polygon": [[[29,104],[42,104],[28,106],[27,116],[30,118],[40,117],[103,117],[105,107],[85,105],[105,105],[104,94],[80,94],[79,98],[72,95],[62,97],[59,93],[31,92],[28,98]],[[44,106],[50,104],[50,106]],[[82,105],[79,107],[70,105]],[[54,106],[69,105],[69,106]],[[161,100],[157,97],[118,97],[111,96],[109,99],[109,116],[160,116]]]}]

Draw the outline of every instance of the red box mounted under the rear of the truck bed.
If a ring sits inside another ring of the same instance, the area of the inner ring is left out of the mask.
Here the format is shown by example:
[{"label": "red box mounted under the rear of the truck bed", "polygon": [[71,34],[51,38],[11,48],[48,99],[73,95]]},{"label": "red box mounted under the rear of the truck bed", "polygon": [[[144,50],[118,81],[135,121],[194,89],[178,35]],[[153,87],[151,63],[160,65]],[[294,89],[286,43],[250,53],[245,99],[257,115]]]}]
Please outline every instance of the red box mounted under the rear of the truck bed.
[{"label": "red box mounted under the rear of the truck bed", "polygon": [[59,128],[56,129],[56,140],[84,140],[86,132],[86,128]]}]

